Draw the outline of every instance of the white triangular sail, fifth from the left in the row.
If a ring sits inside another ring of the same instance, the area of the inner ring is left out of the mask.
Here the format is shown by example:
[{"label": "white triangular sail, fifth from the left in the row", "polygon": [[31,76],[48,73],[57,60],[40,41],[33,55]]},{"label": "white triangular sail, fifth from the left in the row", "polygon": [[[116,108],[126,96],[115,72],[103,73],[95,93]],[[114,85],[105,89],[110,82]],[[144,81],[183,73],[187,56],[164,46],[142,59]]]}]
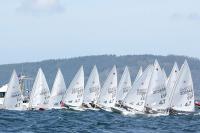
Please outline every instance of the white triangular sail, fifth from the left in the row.
[{"label": "white triangular sail, fifth from the left in the row", "polygon": [[100,95],[100,88],[99,73],[97,67],[94,66],[85,86],[83,103],[96,104]]}]

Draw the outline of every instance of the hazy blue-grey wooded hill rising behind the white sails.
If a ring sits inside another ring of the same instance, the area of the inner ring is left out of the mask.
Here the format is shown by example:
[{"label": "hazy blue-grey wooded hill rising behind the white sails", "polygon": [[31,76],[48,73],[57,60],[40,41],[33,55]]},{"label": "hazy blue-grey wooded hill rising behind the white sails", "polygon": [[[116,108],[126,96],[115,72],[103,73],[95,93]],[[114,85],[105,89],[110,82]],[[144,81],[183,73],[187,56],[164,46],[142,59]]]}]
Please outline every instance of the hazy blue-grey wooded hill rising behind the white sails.
[{"label": "hazy blue-grey wooded hill rising behind the white sails", "polygon": [[84,66],[86,77],[85,80],[87,80],[94,65],[97,65],[97,68],[99,70],[101,83],[104,82],[113,65],[117,66],[119,78],[121,77],[124,67],[127,65],[131,71],[131,78],[132,80],[134,80],[139,70],[139,67],[142,66],[143,68],[146,68],[147,65],[154,63],[155,59],[157,59],[161,67],[166,70],[167,75],[169,75],[175,61],[178,63],[180,68],[184,60],[187,59],[192,71],[195,95],[196,98],[198,98],[200,94],[200,60],[196,58],[175,55],[99,55],[70,59],[46,60],[33,63],[0,65],[0,85],[4,85],[9,81],[13,69],[16,69],[18,73],[21,73],[23,71],[25,75],[28,75],[34,79],[37,74],[38,68],[41,67],[46,75],[47,82],[49,83],[50,88],[52,87],[58,68],[61,68],[66,81],[66,85],[68,86],[81,65]]}]

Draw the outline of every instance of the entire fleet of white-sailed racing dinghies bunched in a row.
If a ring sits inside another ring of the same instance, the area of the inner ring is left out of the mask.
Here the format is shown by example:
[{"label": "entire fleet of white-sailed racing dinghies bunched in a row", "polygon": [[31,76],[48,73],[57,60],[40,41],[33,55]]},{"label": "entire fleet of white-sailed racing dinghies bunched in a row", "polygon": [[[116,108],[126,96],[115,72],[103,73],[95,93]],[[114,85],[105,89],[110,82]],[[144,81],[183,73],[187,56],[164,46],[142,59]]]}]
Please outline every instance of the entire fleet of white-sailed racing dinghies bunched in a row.
[{"label": "entire fleet of white-sailed racing dinghies bunched in a row", "polygon": [[60,69],[58,69],[51,92],[45,75],[38,70],[30,99],[24,102],[19,78],[12,73],[2,109],[5,110],[105,110],[121,114],[176,114],[194,112],[194,88],[191,71],[187,61],[179,70],[174,63],[167,77],[158,61],[150,64],[144,71],[139,69],[131,83],[131,74],[126,66],[118,85],[117,68],[113,66],[103,86],[94,66],[86,85],[84,70],[80,67],[68,89]]}]

